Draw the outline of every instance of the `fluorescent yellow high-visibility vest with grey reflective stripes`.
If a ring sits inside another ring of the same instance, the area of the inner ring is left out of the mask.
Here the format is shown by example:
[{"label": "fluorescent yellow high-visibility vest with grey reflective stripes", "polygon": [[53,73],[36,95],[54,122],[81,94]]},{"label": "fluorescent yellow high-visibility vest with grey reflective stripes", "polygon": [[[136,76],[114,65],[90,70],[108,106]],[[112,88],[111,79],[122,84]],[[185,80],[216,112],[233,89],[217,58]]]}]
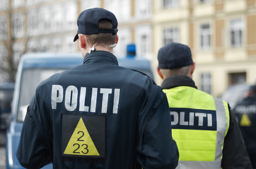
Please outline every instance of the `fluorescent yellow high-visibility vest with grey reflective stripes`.
[{"label": "fluorescent yellow high-visibility vest with grey reflective stripes", "polygon": [[[173,139],[177,142],[180,151],[178,168],[221,168],[223,139],[229,127],[228,104],[192,87],[163,89],[163,92],[168,97],[170,111],[174,110],[174,114],[180,115],[178,125],[173,125],[172,130]],[[179,108],[180,112],[178,112]],[[200,117],[196,116],[197,112],[202,113],[201,120],[206,127],[199,126],[191,130],[193,125],[199,125],[199,120],[186,122],[186,119],[199,119]],[[172,113],[170,114],[172,116]],[[191,114],[191,117],[182,120],[184,114]],[[207,124],[213,127],[209,127],[208,130]],[[187,125],[187,128],[182,125]],[[200,130],[200,127],[204,128]]]}]

